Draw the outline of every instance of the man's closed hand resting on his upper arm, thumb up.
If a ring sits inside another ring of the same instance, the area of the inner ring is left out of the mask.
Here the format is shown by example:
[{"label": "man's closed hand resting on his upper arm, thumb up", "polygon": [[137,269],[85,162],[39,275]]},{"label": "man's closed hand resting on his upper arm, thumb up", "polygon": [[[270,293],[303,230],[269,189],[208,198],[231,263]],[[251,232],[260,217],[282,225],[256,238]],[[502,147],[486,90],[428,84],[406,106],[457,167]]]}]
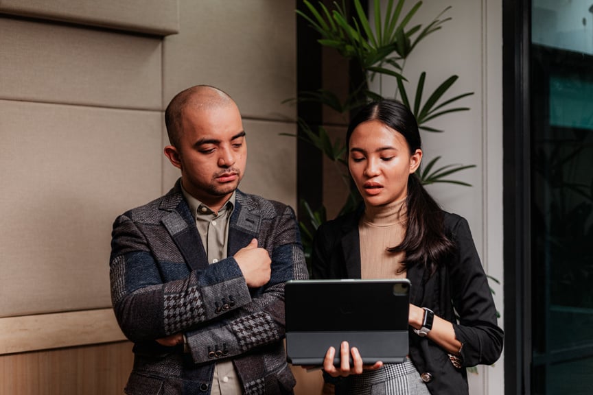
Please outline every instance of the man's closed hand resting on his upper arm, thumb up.
[{"label": "man's closed hand resting on his upper arm, thumb up", "polygon": [[261,287],[270,281],[272,260],[267,250],[257,247],[257,239],[251,240],[246,247],[237,251],[234,258],[248,287]]}]

